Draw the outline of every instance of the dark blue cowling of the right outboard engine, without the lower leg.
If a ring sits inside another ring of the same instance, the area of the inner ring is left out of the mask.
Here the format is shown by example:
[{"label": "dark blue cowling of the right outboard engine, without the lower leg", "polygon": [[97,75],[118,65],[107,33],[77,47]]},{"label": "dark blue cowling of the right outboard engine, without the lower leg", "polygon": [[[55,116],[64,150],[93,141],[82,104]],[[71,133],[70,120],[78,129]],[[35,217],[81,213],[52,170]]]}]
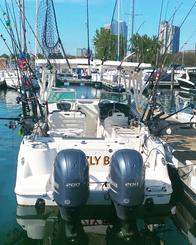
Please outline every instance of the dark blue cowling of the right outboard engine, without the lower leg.
[{"label": "dark blue cowling of the right outboard engine, without the lower leg", "polygon": [[122,149],[111,158],[110,198],[118,205],[139,206],[144,200],[145,167],[138,151]]}]

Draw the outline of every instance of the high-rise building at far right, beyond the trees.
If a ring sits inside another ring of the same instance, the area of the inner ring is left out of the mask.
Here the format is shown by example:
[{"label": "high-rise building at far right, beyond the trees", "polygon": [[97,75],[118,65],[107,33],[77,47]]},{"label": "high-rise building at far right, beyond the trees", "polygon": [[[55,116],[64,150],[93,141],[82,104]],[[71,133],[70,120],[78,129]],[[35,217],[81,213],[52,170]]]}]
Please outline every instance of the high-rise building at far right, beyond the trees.
[{"label": "high-rise building at far right, beyond the trees", "polygon": [[162,46],[160,53],[177,53],[180,43],[180,27],[170,25],[168,21],[162,21],[160,24],[159,41]]}]

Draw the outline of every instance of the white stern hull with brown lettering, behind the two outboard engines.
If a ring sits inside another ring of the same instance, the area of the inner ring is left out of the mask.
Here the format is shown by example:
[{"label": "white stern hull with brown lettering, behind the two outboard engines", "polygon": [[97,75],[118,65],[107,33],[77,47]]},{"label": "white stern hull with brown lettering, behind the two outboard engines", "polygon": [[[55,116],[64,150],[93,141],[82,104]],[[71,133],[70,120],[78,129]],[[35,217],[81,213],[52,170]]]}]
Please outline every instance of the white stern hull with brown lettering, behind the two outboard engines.
[{"label": "white stern hull with brown lettering, behind the two outboard engines", "polygon": [[[133,148],[133,139],[108,140],[69,140],[63,138],[42,138],[32,142],[28,138],[21,143],[18,157],[18,172],[16,181],[16,198],[19,205],[35,205],[42,198],[48,206],[56,206],[52,196],[53,163],[57,152],[62,149],[78,148],[86,153],[89,163],[90,195],[87,205],[111,205],[108,198],[107,177],[111,155],[119,149]],[[135,143],[137,138],[134,138]],[[44,143],[43,143],[44,142]],[[125,145],[126,143],[126,145]],[[135,144],[137,145],[137,144]],[[160,142],[160,147],[162,144]],[[28,153],[28,154],[26,154]],[[32,157],[33,156],[33,157]],[[160,169],[160,176],[146,167],[145,199],[152,199],[155,205],[168,204],[172,194],[170,179]],[[39,174],[37,174],[39,173]],[[156,179],[157,180],[156,180]],[[148,191],[149,190],[149,191]]]}]

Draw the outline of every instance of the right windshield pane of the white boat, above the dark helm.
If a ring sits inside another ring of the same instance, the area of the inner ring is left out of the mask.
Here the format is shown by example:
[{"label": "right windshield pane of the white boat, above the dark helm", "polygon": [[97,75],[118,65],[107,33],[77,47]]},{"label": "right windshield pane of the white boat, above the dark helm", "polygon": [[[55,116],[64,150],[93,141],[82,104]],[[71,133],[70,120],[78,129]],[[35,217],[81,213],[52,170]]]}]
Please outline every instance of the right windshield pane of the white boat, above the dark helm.
[{"label": "right windshield pane of the white boat, above the dark helm", "polygon": [[100,96],[100,102],[110,101],[128,104],[129,103],[129,94],[127,93],[118,93],[118,92],[102,92]]}]

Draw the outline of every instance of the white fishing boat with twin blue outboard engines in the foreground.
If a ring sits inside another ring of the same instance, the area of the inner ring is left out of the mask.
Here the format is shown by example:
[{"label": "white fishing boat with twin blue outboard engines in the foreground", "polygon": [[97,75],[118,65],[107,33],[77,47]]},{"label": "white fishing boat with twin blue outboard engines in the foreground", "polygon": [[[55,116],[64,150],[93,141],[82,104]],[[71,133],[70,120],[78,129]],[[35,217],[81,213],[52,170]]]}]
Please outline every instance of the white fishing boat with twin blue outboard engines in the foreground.
[{"label": "white fishing boat with twin blue outboard engines in the foreground", "polygon": [[170,210],[167,147],[142,123],[130,93],[77,99],[53,84],[51,72],[43,72],[39,102],[46,114],[26,124],[32,130],[19,149],[17,204],[58,206],[72,225],[81,209],[99,219],[108,210],[128,224],[126,235],[134,217]]}]

